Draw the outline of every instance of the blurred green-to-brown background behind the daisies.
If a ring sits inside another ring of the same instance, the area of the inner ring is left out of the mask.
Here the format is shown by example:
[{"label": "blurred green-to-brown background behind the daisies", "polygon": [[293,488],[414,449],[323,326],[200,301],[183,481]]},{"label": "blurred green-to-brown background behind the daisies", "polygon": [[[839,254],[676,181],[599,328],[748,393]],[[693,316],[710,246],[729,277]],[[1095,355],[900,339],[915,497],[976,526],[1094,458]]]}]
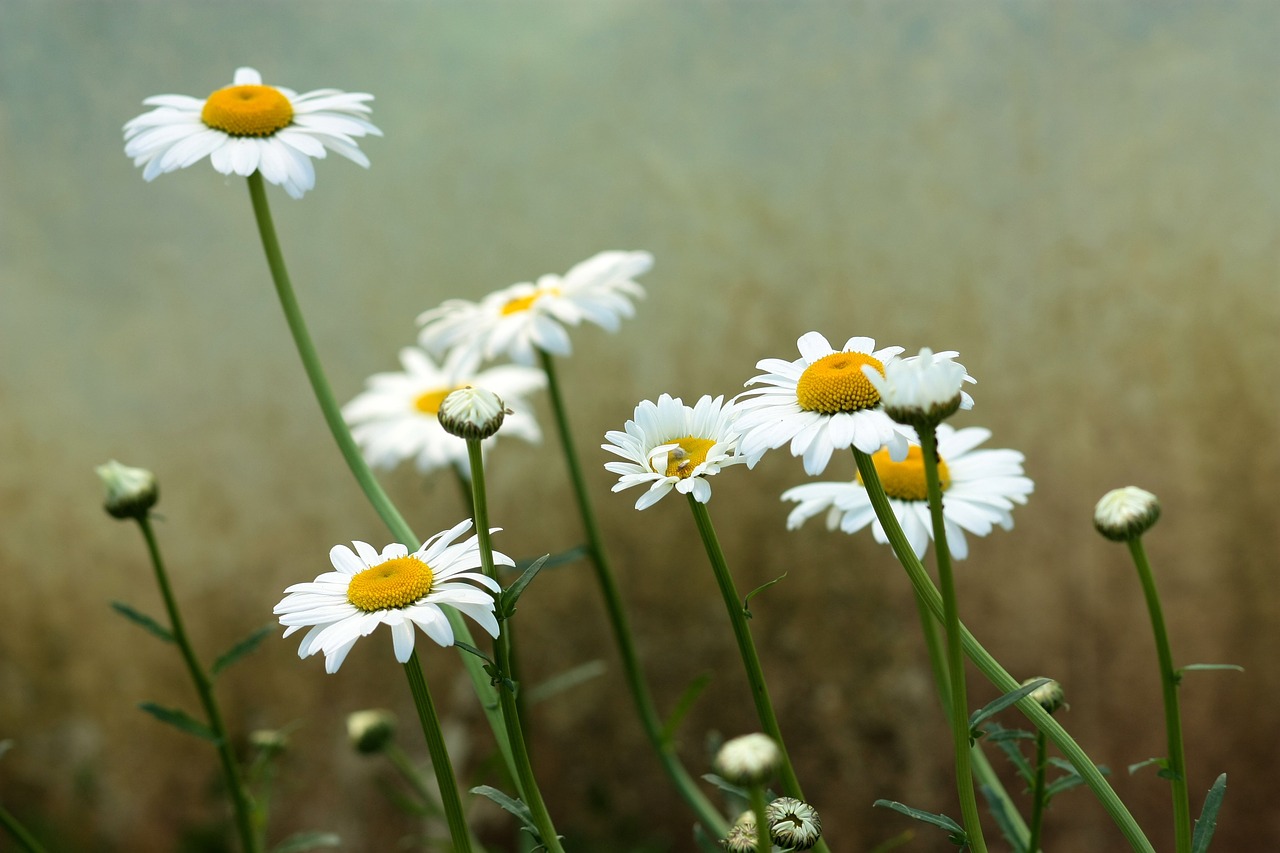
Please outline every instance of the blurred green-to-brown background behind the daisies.
[{"label": "blurred green-to-brown background behind the daisies", "polygon": [[[1193,812],[1225,771],[1215,849],[1280,833],[1274,3],[0,0],[0,800],[51,849],[225,849],[212,751],[136,707],[198,706],[173,649],[109,608],[163,612],[95,465],[157,473],[207,660],[333,544],[387,540],[305,383],[243,181],[204,161],[147,184],[123,155],[143,97],[204,97],[242,64],[376,95],[369,172],[329,158],[302,201],[269,191],[342,400],[444,298],[654,252],[637,318],[575,332],[559,368],[659,707],[712,675],[681,729],[695,775],[709,736],[756,727],[741,665],[687,510],[609,494],[598,446],[637,401],[736,393],[817,329],[960,351],[979,384],[956,425],[1023,451],[1037,484],[1011,533],[972,542],[961,613],[1015,676],[1064,684],[1064,724],[1169,849],[1166,783],[1125,771],[1165,752],[1147,613],[1091,524],[1111,488],[1160,496],[1147,548],[1175,660],[1247,670],[1184,681]],[[539,416],[549,432],[545,400]],[[499,447],[489,478],[506,552],[581,540],[553,442]],[[422,535],[463,517],[447,474],[385,482]],[[756,643],[832,849],[869,850],[914,829],[877,798],[957,813],[948,738],[904,573],[867,532],[787,533],[778,494],[803,482],[778,451],[717,478],[710,511],[740,588],[788,573],[753,601]],[[521,603],[527,684],[604,667],[532,706],[543,790],[571,850],[692,849],[599,601],[575,565]],[[489,780],[457,654],[420,649],[457,766]],[[389,637],[337,675],[296,651],[273,633],[219,681],[246,754],[250,731],[293,726],[271,839],[412,849],[393,774],[343,729],[392,708],[425,758]],[[975,706],[996,695],[970,684]],[[474,820],[513,849],[502,812]],[[1055,849],[1124,849],[1087,792],[1047,820]],[[902,849],[954,848],[920,829]]]}]

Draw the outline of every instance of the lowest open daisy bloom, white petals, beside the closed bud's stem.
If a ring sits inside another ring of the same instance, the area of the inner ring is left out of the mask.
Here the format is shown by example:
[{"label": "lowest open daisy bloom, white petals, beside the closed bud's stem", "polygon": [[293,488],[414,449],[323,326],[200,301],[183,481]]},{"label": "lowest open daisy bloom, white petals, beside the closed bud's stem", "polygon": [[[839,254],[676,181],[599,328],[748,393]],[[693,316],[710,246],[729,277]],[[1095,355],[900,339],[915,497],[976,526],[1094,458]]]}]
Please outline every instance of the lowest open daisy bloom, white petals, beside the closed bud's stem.
[{"label": "lowest open daisy bloom, white petals, beside the closed bud's stem", "polygon": [[[356,640],[387,625],[392,629],[396,660],[404,663],[413,653],[415,625],[440,646],[453,646],[453,629],[442,605],[470,616],[490,637],[498,637],[490,593],[500,592],[502,587],[471,571],[480,567],[480,543],[475,535],[453,543],[470,528],[470,519],[456,524],[413,553],[402,544],[389,544],[381,553],[365,542],[352,542],[355,551],[334,546],[329,561],[335,571],[311,583],[293,584],[273,611],[285,626],[285,637],[302,628],[311,629],[302,638],[298,657],[324,652],[325,672],[337,672]],[[515,565],[498,552],[493,560],[499,566]]]}]

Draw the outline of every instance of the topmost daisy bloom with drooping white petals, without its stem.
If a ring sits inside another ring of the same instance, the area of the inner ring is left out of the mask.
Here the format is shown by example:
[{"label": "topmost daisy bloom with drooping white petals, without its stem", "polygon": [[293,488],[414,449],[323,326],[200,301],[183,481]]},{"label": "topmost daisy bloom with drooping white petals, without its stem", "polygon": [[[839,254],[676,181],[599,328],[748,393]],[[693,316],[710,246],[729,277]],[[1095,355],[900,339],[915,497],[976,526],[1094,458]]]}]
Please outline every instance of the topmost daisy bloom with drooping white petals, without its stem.
[{"label": "topmost daisy bloom with drooping white petals, without its stem", "polygon": [[374,100],[364,92],[317,88],[298,95],[292,88],[264,86],[252,68],[237,68],[232,85],[201,100],[187,95],[155,95],[142,101],[156,109],[124,126],[124,154],[146,167],[146,181],[204,160],[223,174],[248,177],[261,172],[269,183],[294,199],[316,183],[311,159],[326,150],[369,168],[356,140],[381,136],[366,120]]}]

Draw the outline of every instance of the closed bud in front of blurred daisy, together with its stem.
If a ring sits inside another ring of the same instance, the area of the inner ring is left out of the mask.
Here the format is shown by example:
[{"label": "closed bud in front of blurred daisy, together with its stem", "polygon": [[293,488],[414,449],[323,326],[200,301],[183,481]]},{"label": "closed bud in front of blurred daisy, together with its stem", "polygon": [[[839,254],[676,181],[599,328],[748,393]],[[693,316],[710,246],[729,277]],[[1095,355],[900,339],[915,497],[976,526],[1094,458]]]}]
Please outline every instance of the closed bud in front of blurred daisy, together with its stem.
[{"label": "closed bud in front of blurred daisy, together with its stem", "polygon": [[[492,391],[484,388],[461,388],[454,391],[440,403],[440,425],[451,435],[466,439],[467,459],[471,464],[471,505],[475,508],[476,526],[480,530],[480,565],[485,576],[497,589],[498,573],[494,567],[493,543],[489,539],[489,501],[485,494],[484,480],[484,452],[481,442],[497,434],[506,419],[506,403]],[[499,555],[500,556],[500,555]],[[513,565],[507,561],[504,565]],[[509,615],[503,608],[502,616]],[[518,685],[512,680],[512,649],[511,637],[507,633],[494,635],[494,660],[497,672],[494,681],[499,684],[498,699],[502,703],[502,719],[507,729],[507,739],[511,743],[512,757],[515,758],[516,775],[525,806],[529,808],[534,825],[538,827],[541,845],[550,853],[563,853],[556,826],[552,824],[550,813],[543,802],[543,794],[534,777],[532,762],[529,760],[529,751],[525,747],[525,733],[520,721],[520,708],[516,703],[516,689]]]}]

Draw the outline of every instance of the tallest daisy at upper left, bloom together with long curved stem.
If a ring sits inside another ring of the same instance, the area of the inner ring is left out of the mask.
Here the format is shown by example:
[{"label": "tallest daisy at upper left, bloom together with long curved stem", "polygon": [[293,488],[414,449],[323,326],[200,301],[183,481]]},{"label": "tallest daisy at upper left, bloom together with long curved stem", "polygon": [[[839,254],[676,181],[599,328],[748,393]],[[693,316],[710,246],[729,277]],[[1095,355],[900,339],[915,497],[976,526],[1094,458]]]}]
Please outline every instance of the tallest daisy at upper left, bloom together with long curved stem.
[{"label": "tallest daisy at upper left, bloom together with long curved stem", "polygon": [[[264,186],[265,178],[270,183],[282,184],[289,195],[301,196],[315,179],[308,156],[323,158],[326,149],[367,165],[367,158],[360,151],[355,140],[369,133],[379,133],[372,124],[361,118],[369,113],[365,101],[371,100],[371,96],[344,96],[337,90],[320,90],[300,99],[292,90],[260,86],[257,73],[248,72],[252,69],[238,70],[236,85],[230,91],[214,92],[204,105],[195,99],[170,100],[175,96],[166,95],[148,99],[147,102],[157,109],[125,126],[125,140],[129,142],[125,154],[138,159],[140,165],[147,164],[143,177],[148,179],[163,172],[191,165],[205,154],[211,156],[214,168],[223,174],[234,173],[247,178],[250,201],[262,238],[271,280],[329,432],[365,497],[392,535],[406,547],[416,548],[419,539],[369,469],[343,420],[342,409],[329,386],[294,296]],[[288,109],[280,102],[282,99],[288,102]],[[312,108],[314,114],[308,118]],[[164,110],[177,110],[180,115]],[[214,134],[205,133],[197,123],[211,129]],[[155,131],[159,126],[172,128],[166,132],[168,136]],[[188,141],[179,141],[173,147],[161,150],[159,146],[170,136]],[[206,150],[214,142],[218,145]],[[204,154],[200,154],[201,151]],[[285,165],[282,165],[282,159]],[[453,633],[463,643],[471,644],[471,631],[462,621],[462,616],[452,607],[445,608],[444,613]],[[509,766],[511,748],[484,665],[471,654],[462,654],[462,662],[494,731],[498,748]],[[413,669],[421,669],[416,652],[410,654],[408,663]]]}]

